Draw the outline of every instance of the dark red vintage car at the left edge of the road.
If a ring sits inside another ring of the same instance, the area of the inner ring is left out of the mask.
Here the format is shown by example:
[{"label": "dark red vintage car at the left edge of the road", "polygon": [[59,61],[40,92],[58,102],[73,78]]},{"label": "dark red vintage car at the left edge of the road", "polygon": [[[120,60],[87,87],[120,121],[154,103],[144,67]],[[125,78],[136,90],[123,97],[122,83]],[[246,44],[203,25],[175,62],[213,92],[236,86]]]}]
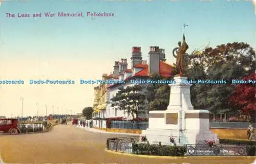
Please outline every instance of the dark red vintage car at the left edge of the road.
[{"label": "dark red vintage car at the left edge of the road", "polygon": [[0,132],[11,135],[19,134],[18,119],[0,119]]}]

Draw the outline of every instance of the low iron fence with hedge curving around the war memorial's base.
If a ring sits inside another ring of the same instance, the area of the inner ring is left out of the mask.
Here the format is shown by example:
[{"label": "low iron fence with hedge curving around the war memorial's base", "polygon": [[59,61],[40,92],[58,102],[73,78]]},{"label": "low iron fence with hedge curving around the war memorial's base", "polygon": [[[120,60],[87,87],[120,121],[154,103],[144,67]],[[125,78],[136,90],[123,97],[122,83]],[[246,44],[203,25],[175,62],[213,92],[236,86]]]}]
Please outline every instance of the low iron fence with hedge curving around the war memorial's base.
[{"label": "low iron fence with hedge curving around the war memorial's base", "polygon": [[[144,145],[139,146],[140,144]],[[108,150],[116,152],[160,156],[251,156],[251,151],[255,150],[250,150],[250,146],[248,145],[234,144],[219,144],[214,146],[209,146],[207,144],[185,144],[184,146],[176,146],[175,144],[171,147],[169,146],[162,146],[162,144],[149,145],[140,143],[139,136],[109,138],[106,143],[106,148]],[[181,149],[183,150],[181,151]],[[175,151],[179,150],[179,153],[174,153]]]}]

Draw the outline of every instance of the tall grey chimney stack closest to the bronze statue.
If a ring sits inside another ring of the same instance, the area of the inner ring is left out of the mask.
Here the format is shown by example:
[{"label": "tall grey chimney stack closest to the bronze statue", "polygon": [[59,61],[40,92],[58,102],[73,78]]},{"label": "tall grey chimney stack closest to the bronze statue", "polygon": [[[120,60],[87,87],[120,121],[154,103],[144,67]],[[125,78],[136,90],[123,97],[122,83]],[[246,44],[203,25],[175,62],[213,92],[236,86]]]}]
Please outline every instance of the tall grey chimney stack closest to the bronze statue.
[{"label": "tall grey chimney stack closest to the bronze statue", "polygon": [[159,46],[150,46],[150,52],[148,53],[148,71],[150,74],[159,74],[160,53]]}]

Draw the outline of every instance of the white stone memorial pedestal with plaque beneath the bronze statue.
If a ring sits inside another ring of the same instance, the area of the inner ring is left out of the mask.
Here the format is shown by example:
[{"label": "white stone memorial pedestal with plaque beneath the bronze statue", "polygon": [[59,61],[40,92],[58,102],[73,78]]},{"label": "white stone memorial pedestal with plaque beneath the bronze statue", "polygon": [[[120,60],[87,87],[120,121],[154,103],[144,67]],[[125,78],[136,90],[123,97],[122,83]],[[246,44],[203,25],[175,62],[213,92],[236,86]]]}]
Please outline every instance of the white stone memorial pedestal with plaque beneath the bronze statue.
[{"label": "white stone memorial pedestal with plaque beneath the bronze statue", "polygon": [[170,100],[167,110],[150,111],[148,128],[142,134],[150,144],[161,142],[162,145],[204,144],[205,140],[215,140],[218,136],[209,131],[209,111],[194,110],[190,101],[190,86],[186,77],[175,77],[175,84],[170,84]]}]

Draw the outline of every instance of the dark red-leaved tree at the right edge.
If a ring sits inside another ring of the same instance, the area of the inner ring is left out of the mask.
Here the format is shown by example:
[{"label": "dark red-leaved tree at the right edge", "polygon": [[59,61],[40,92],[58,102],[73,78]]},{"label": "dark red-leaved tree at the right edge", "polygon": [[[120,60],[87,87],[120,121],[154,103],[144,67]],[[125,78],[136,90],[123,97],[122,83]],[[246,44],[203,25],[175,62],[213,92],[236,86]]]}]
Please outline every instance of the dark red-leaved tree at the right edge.
[{"label": "dark red-leaved tree at the right edge", "polygon": [[242,111],[250,114],[250,122],[255,122],[255,111],[256,111],[256,88],[255,88],[255,72],[251,72],[242,80],[249,81],[253,80],[250,84],[238,84],[234,93],[229,98],[229,103],[232,106],[237,106]]}]

